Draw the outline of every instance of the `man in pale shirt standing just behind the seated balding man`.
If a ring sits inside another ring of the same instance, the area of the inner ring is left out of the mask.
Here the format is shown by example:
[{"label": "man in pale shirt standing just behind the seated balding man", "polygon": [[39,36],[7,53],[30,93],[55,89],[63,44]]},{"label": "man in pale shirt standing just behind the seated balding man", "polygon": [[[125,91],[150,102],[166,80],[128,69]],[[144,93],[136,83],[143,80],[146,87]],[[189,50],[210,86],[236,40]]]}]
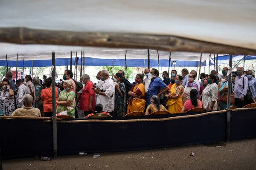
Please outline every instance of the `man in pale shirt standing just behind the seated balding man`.
[{"label": "man in pale shirt standing just behind the seated balding man", "polygon": [[30,94],[29,88],[27,88],[21,79],[18,79],[17,82],[17,87],[18,87],[18,92],[17,92],[17,99],[16,99],[16,104],[17,108],[23,108],[23,97],[25,94]]}]

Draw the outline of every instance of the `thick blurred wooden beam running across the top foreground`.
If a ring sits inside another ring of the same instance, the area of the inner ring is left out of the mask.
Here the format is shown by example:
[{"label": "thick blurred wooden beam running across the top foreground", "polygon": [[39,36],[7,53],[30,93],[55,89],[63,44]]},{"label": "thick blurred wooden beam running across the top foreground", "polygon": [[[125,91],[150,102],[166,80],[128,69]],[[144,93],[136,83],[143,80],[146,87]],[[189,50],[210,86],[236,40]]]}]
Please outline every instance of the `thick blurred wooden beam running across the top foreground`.
[{"label": "thick blurred wooden beam running across the top foreground", "polygon": [[0,28],[0,42],[256,55],[255,49],[193,40],[172,35],[54,31],[24,27]]}]

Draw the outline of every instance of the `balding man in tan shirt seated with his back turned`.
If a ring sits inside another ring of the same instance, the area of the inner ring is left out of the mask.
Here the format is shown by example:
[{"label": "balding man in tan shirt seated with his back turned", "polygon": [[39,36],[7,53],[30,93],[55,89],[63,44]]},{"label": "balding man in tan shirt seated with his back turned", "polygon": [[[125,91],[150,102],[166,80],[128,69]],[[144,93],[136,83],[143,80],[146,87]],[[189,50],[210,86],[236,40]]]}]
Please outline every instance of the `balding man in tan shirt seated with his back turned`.
[{"label": "balding man in tan shirt seated with his back turned", "polygon": [[41,117],[40,110],[32,106],[33,97],[30,94],[25,94],[23,97],[23,108],[16,109],[11,116],[29,116]]}]

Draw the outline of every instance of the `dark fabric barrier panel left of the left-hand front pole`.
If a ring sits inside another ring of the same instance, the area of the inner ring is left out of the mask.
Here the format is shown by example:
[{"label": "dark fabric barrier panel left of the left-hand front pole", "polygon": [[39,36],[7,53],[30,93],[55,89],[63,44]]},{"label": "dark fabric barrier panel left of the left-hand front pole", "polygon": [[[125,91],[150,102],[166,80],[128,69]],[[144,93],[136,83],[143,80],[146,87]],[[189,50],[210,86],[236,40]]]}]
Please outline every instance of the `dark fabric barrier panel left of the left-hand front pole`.
[{"label": "dark fabric barrier panel left of the left-hand front pole", "polygon": [[0,119],[3,159],[52,155],[52,122],[40,119]]}]

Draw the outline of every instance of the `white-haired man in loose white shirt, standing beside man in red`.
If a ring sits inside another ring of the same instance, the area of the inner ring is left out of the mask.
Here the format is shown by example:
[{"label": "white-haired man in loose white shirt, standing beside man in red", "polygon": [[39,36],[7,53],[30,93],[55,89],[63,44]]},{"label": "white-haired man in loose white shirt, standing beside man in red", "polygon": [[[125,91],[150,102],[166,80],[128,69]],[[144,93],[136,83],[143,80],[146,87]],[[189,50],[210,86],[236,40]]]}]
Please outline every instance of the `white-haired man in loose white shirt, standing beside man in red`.
[{"label": "white-haired man in loose white shirt, standing beside man in red", "polygon": [[113,80],[109,77],[108,70],[102,70],[100,73],[102,83],[102,90],[94,88],[94,92],[98,94],[96,104],[101,103],[103,106],[103,111],[113,115],[115,108],[115,84]]}]

